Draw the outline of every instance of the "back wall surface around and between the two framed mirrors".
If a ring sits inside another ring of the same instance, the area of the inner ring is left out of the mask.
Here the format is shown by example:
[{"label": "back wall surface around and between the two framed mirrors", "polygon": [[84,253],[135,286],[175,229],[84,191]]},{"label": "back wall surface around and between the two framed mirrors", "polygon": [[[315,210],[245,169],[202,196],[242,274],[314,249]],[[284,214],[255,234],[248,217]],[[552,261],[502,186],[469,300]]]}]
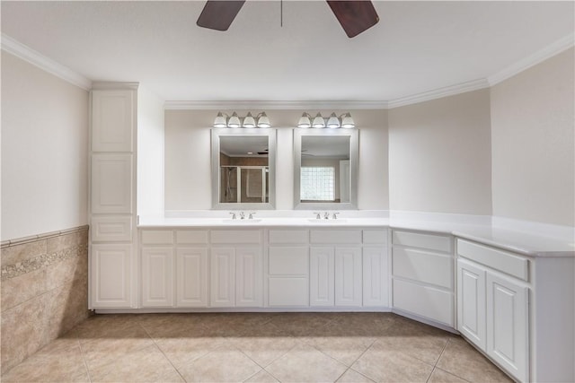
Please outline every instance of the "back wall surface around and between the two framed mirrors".
[{"label": "back wall surface around and between the two framed mirrors", "polygon": [[[222,110],[231,114],[229,110]],[[245,116],[247,110],[236,110]],[[320,110],[323,116],[332,111]],[[256,110],[252,110],[252,113]],[[303,110],[266,110],[278,127],[276,208],[293,208],[293,127]],[[310,110],[316,113],[316,110]],[[358,207],[387,209],[387,112],[350,110],[359,128]],[[165,111],[165,209],[211,208],[210,128],[217,110]]]}]

